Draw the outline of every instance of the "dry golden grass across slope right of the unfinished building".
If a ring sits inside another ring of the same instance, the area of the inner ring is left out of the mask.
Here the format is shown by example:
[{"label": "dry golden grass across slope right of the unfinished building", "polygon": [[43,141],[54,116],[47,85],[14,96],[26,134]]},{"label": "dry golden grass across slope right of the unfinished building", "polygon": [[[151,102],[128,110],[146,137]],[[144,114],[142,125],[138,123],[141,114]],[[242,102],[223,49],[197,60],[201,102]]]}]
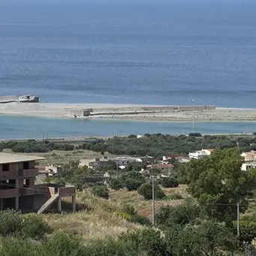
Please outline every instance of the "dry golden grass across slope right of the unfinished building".
[{"label": "dry golden grass across slope right of the unfinished building", "polygon": [[[185,186],[179,188],[165,188],[165,194],[181,194],[183,198],[188,194]],[[182,200],[158,200],[155,202],[156,212],[160,206],[176,206],[183,203]],[[66,202],[68,203],[68,201]],[[117,238],[121,233],[128,230],[143,228],[138,224],[131,223],[125,218],[115,214],[124,204],[131,204],[141,215],[151,218],[152,201],[144,200],[137,191],[110,191],[110,199],[104,200],[93,196],[89,189],[77,193],[77,203],[83,204],[85,209],[71,214],[47,214],[44,219],[50,224],[53,230],[62,230],[65,233],[78,234],[85,242],[91,242],[107,237]]]}]

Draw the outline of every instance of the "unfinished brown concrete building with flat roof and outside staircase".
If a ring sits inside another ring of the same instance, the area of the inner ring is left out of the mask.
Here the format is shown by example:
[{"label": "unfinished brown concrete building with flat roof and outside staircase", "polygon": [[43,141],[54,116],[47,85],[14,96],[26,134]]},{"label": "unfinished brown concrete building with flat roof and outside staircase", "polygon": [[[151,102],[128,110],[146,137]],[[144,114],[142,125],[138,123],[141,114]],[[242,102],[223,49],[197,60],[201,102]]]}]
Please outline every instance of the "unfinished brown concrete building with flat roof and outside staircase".
[{"label": "unfinished brown concrete building with flat roof and outside staircase", "polygon": [[0,209],[42,213],[57,203],[62,212],[62,197],[72,197],[72,209],[76,209],[74,186],[35,185],[38,176],[35,161],[43,159],[0,152]]}]

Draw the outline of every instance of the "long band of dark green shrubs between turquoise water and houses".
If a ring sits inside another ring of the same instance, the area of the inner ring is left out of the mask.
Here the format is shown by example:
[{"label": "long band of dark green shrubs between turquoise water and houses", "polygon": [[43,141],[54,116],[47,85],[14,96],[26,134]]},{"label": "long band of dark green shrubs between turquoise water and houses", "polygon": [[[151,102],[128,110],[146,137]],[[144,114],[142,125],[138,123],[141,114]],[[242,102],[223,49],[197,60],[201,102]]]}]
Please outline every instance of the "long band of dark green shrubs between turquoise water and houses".
[{"label": "long band of dark green shrubs between turquoise water and houses", "polygon": [[169,134],[144,134],[142,137],[112,137],[108,139],[85,140],[76,143],[70,141],[51,142],[50,140],[10,140],[0,143],[0,150],[13,152],[53,152],[90,150],[109,152],[113,155],[152,155],[160,157],[167,154],[182,154],[200,149],[239,148],[242,151],[256,149],[256,136],[246,135],[201,135],[188,134],[173,136]]}]

